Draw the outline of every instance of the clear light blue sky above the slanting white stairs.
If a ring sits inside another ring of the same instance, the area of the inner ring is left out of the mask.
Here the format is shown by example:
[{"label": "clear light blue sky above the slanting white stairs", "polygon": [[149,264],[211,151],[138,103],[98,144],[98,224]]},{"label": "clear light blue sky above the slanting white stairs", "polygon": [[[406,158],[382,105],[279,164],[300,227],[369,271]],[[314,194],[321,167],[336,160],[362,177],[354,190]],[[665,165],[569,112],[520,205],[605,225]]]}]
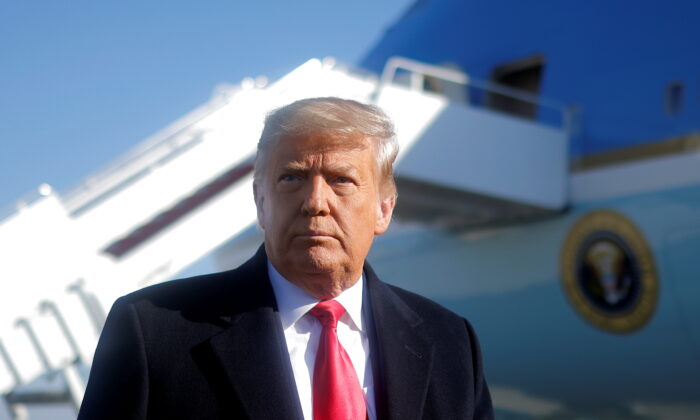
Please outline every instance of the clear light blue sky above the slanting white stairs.
[{"label": "clear light blue sky above the slanting white stairs", "polygon": [[79,183],[219,83],[358,62],[411,3],[0,2],[0,209]]}]

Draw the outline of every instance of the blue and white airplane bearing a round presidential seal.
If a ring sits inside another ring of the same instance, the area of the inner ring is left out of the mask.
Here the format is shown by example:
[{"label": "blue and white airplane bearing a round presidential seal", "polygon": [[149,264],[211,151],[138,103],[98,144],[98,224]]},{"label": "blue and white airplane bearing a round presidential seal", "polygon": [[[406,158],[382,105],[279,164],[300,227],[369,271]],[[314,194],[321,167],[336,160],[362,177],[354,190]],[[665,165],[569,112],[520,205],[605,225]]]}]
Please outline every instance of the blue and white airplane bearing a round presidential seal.
[{"label": "blue and white airplane bearing a round presidential seal", "polygon": [[[432,143],[415,152],[424,176],[408,171],[403,182],[411,199],[411,186],[436,188],[415,215],[423,227],[380,238],[371,258],[474,323],[506,412],[700,416],[700,37],[689,24],[699,11],[690,1],[418,1],[361,62],[378,71],[398,55],[518,89],[528,96],[470,83],[459,96],[423,80],[424,90],[521,121],[555,120],[540,98],[569,112],[553,205],[519,199],[551,181],[543,168],[555,158],[538,149],[539,134],[490,128],[475,139],[490,126],[466,112],[462,126],[433,122]],[[542,179],[525,185],[529,176]],[[400,170],[398,179],[401,206]],[[481,199],[483,212],[471,211]],[[492,208],[492,199],[505,202]],[[456,222],[425,227],[441,216]]]}]

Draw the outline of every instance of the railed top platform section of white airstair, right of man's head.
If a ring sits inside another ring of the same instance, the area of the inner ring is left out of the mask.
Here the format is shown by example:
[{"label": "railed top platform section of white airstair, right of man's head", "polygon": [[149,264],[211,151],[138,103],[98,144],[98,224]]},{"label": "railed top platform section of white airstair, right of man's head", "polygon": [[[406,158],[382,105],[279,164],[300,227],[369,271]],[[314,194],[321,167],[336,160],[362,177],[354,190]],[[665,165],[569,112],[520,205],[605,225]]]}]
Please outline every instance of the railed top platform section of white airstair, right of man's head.
[{"label": "railed top platform section of white airstair, right of man's head", "polygon": [[[464,230],[565,209],[571,110],[399,57],[387,62],[378,92],[401,138],[398,218]],[[537,107],[539,119],[494,110],[494,97]]]}]

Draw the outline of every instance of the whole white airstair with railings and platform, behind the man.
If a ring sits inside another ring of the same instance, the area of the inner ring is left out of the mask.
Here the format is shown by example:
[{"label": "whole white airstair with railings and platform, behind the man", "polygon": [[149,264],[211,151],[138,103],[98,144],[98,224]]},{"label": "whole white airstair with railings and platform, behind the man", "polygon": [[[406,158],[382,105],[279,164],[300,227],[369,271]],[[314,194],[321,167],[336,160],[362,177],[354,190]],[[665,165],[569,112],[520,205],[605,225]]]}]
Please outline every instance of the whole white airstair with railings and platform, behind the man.
[{"label": "whole white airstair with railings and platform, behind the man", "polygon": [[[561,120],[494,112],[477,88],[548,106]],[[468,229],[566,206],[570,130],[556,104],[398,58],[381,78],[314,59],[269,85],[222,86],[78,187],[59,194],[42,185],[0,219],[0,419],[51,404],[74,412],[118,296],[172,279],[222,246],[233,260],[251,252],[264,115],[316,96],[375,102],[395,119],[401,219]]]}]

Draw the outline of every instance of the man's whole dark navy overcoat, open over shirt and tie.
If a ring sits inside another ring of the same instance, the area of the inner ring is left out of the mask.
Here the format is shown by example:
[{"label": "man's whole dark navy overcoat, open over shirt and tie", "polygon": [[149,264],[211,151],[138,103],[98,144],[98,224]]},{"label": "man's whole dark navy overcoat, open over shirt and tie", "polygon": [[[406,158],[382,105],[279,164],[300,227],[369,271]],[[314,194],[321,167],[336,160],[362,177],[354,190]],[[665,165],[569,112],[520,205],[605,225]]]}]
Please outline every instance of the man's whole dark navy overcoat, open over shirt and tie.
[{"label": "man's whole dark navy overcoat, open over shirt and tie", "polygon": [[[302,420],[266,259],[118,299],[79,420]],[[493,418],[469,323],[365,276],[378,418]]]}]

